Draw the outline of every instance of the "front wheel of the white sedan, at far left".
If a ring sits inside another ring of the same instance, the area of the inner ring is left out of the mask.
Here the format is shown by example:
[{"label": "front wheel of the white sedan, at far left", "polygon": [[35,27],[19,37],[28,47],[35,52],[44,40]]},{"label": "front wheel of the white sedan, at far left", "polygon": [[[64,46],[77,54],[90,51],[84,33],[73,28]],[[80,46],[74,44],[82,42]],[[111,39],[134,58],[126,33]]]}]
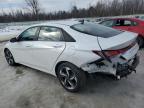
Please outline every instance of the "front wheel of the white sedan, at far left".
[{"label": "front wheel of the white sedan, at far left", "polygon": [[5,49],[4,53],[5,53],[5,58],[6,58],[7,63],[10,66],[15,66],[16,63],[15,63],[15,60],[14,60],[13,55],[10,52],[10,50],[9,49]]}]

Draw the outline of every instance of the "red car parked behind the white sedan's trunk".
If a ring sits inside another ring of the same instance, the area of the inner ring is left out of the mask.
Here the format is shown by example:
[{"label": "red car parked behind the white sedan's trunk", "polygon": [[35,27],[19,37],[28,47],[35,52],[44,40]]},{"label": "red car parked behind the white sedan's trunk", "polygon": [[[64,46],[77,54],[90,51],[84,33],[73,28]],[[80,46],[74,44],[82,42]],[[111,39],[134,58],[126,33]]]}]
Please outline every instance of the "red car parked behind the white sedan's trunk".
[{"label": "red car parked behind the white sedan's trunk", "polygon": [[100,22],[100,24],[113,27],[115,29],[126,30],[138,33],[138,43],[140,47],[144,45],[144,21],[136,18],[112,18]]}]

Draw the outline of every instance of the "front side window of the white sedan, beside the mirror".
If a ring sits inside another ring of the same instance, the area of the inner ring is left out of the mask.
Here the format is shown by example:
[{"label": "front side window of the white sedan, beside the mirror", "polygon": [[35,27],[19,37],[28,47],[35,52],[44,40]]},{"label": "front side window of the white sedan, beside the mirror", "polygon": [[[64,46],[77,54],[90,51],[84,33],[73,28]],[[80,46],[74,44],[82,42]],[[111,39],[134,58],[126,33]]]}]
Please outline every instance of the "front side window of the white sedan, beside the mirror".
[{"label": "front side window of the white sedan, beside the mirror", "polygon": [[20,36],[20,41],[35,41],[37,40],[37,31],[39,27],[32,27],[24,31]]}]

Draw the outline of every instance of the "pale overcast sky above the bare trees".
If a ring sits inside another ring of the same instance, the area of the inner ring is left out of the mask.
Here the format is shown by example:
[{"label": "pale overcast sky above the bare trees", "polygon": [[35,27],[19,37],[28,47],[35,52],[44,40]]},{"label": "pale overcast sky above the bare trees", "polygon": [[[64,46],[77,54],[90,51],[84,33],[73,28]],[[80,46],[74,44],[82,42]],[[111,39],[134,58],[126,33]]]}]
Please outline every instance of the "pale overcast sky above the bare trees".
[{"label": "pale overcast sky above the bare trees", "polygon": [[[39,0],[39,3],[45,12],[52,12],[58,10],[69,11],[74,5],[78,8],[87,8],[89,5],[94,5],[97,1],[98,0]],[[0,11],[16,10],[19,8],[26,8],[24,0],[0,0]]]}]

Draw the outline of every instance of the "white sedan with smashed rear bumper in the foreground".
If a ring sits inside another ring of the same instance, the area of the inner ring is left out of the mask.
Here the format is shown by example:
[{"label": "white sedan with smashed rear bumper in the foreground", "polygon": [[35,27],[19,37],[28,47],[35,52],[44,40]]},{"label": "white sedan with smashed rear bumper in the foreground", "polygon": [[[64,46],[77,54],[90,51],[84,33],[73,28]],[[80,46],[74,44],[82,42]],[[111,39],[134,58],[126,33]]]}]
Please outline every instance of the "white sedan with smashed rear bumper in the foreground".
[{"label": "white sedan with smashed rear bumper in the foreground", "polygon": [[137,34],[84,21],[31,26],[5,45],[9,65],[23,64],[57,76],[70,92],[80,90],[89,74],[127,76],[138,65]]}]

